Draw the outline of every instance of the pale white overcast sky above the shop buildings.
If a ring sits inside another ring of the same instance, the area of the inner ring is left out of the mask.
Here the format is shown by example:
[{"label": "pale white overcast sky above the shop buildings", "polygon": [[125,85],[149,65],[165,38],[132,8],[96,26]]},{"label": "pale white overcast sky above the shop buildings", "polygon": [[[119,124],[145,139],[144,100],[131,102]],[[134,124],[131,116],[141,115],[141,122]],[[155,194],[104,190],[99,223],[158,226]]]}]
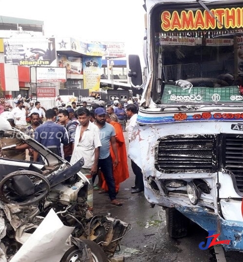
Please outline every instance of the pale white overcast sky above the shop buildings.
[{"label": "pale white overcast sky above the shop buildings", "polygon": [[142,54],[143,0],[0,0],[0,15],[44,21],[45,35],[125,42]]}]

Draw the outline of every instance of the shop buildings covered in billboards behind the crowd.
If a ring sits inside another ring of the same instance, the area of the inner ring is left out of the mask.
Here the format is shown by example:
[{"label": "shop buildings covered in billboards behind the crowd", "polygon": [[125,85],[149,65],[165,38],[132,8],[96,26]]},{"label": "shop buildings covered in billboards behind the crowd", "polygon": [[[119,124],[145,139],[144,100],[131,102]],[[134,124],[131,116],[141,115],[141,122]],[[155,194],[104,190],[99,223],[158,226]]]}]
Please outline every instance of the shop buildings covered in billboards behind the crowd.
[{"label": "shop buildings covered in billboards behind the crowd", "polygon": [[[102,57],[126,56],[124,43],[86,43],[72,37],[46,37],[43,21],[5,17],[0,33],[0,37],[4,36],[0,39],[1,92],[9,98],[19,93],[35,97],[38,87],[55,88],[56,95],[68,92],[79,96],[87,94],[87,90],[98,91]],[[48,67],[46,76],[50,77],[37,81],[36,67]],[[58,71],[56,67],[66,69],[65,81],[53,78],[55,70]],[[103,72],[109,74],[109,70],[106,65]]]}]

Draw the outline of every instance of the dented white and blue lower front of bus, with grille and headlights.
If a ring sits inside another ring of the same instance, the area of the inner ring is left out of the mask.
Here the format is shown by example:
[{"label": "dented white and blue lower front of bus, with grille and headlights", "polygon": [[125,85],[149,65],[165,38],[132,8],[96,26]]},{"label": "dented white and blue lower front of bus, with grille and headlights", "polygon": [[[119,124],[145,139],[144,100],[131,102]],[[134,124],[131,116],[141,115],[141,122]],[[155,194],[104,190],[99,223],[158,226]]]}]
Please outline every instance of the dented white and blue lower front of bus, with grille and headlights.
[{"label": "dented white and blue lower front of bus, with grille and headlights", "polygon": [[176,209],[220,234],[218,240],[230,240],[225,250],[243,251],[243,173],[232,162],[239,158],[243,134],[232,134],[230,126],[137,125],[129,157],[142,169],[145,197],[152,205]]}]

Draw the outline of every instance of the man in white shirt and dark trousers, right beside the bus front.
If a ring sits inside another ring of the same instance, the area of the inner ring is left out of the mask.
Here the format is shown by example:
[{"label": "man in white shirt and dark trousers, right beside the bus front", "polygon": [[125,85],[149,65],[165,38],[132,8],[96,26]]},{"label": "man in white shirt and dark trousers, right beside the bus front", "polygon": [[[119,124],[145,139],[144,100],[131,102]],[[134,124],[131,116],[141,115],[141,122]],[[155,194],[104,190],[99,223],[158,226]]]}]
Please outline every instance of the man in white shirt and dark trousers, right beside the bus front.
[{"label": "man in white shirt and dark trousers, right beside the bus front", "polygon": [[[137,120],[137,107],[134,104],[128,104],[126,108],[126,114],[130,117],[128,126],[128,139],[131,140],[133,128],[136,126]],[[135,175],[135,185],[132,186],[131,194],[140,193],[144,191],[144,180],[141,168],[131,160],[131,169]]]}]

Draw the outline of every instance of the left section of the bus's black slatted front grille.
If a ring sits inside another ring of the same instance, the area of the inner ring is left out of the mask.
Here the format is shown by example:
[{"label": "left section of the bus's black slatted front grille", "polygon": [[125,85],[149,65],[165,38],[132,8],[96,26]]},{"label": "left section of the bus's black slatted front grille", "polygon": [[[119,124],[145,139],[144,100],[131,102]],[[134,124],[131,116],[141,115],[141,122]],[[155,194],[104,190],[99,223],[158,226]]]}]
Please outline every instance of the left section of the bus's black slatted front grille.
[{"label": "left section of the bus's black slatted front grille", "polygon": [[213,135],[167,136],[158,140],[155,165],[164,173],[214,172],[215,150]]}]

